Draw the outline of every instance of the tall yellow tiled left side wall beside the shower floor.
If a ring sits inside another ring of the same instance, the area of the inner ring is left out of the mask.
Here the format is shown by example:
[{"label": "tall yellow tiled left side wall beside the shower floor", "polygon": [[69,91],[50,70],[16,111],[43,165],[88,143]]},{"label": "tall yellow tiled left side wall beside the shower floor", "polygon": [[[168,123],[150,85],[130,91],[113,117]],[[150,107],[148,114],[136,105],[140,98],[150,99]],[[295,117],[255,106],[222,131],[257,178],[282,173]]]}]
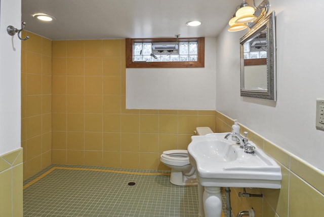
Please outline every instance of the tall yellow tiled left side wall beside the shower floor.
[{"label": "tall yellow tiled left side wall beside the shower floor", "polygon": [[31,32],[21,46],[24,179],[52,163],[52,41]]}]

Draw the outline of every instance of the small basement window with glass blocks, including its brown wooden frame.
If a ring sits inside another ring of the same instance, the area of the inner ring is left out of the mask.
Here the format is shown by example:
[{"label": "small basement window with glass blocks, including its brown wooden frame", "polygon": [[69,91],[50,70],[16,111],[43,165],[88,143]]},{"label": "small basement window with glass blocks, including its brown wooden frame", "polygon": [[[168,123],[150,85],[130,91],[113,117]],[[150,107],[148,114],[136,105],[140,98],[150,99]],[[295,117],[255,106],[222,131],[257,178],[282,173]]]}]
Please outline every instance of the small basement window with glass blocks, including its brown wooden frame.
[{"label": "small basement window with glass blocks, including its brown wooden frame", "polygon": [[205,38],[126,39],[127,68],[205,67]]}]

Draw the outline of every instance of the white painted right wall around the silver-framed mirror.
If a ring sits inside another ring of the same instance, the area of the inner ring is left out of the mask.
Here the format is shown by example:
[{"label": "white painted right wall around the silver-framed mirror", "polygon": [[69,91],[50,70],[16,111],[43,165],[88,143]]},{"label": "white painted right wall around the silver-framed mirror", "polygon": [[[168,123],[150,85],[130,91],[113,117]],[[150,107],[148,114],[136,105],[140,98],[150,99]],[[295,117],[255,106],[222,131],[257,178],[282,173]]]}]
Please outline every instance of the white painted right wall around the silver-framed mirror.
[{"label": "white painted right wall around the silver-framed mirror", "polygon": [[324,98],[324,1],[270,4],[276,12],[277,101],[240,97],[239,39],[246,32],[226,27],[217,38],[216,109],[324,170],[324,132],[315,129],[316,98]]}]

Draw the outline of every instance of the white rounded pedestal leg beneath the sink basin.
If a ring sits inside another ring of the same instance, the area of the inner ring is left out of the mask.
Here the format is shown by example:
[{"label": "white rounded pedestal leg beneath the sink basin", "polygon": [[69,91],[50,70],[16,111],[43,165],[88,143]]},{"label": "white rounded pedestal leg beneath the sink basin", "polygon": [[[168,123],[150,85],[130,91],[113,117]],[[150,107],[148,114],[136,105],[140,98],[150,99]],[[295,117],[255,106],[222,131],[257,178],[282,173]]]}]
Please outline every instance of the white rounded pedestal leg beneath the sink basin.
[{"label": "white rounded pedestal leg beneath the sink basin", "polygon": [[204,187],[198,184],[198,208],[199,217],[221,217],[221,188]]}]

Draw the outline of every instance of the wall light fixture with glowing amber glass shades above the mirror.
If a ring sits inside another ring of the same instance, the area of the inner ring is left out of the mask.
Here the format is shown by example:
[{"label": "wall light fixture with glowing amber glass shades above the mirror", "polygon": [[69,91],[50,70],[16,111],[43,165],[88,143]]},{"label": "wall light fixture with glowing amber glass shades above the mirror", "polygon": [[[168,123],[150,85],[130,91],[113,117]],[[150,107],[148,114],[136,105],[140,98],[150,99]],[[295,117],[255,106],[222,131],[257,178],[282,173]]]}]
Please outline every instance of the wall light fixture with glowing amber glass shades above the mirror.
[{"label": "wall light fixture with glowing amber glass shades above the mirror", "polygon": [[243,3],[236,7],[235,14],[229,20],[228,31],[240,31],[248,27],[254,26],[257,22],[266,17],[269,11],[269,1],[263,0],[261,4],[256,7],[255,0],[253,0],[253,5],[249,4],[243,0]]}]

